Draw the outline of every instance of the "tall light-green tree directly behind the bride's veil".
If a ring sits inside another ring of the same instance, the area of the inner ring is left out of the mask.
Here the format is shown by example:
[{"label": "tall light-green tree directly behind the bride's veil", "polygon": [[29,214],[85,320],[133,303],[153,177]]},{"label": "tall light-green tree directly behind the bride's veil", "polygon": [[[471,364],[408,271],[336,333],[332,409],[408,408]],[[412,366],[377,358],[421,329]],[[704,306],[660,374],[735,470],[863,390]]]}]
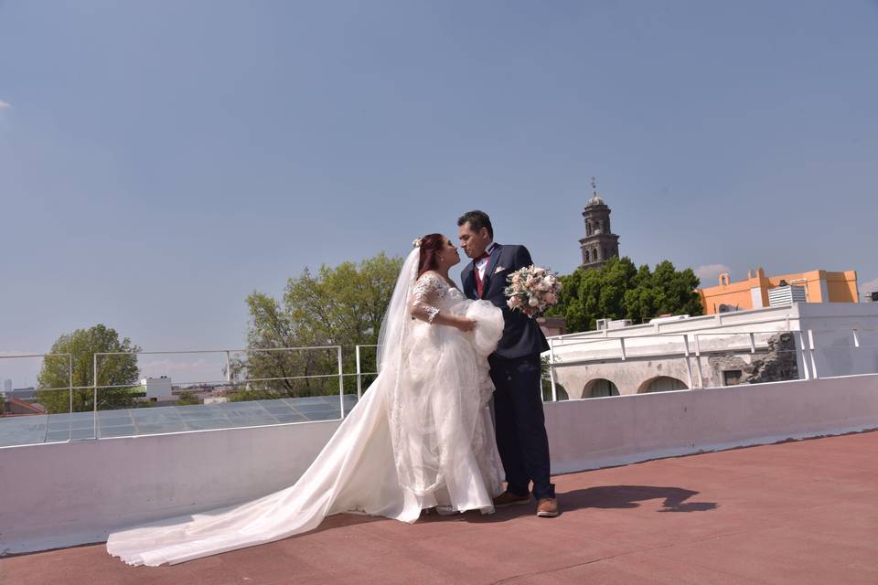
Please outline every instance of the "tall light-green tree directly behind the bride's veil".
[{"label": "tall light-green tree directly behind the bride's veil", "polygon": [[[259,351],[278,347],[343,346],[344,371],[354,370],[354,346],[378,343],[381,320],[391,302],[401,258],[383,252],[355,264],[321,266],[316,275],[305,269],[287,281],[281,301],[259,292],[247,297],[250,309],[247,356],[235,360],[232,375],[281,378],[248,383],[230,399],[249,400],[320,396],[337,392],[336,350]],[[364,351],[362,371],[374,372],[375,352]],[[327,378],[300,378],[326,376]],[[300,378],[300,379],[295,379]],[[364,383],[368,380],[364,379]],[[356,390],[353,377],[346,392]]]}]

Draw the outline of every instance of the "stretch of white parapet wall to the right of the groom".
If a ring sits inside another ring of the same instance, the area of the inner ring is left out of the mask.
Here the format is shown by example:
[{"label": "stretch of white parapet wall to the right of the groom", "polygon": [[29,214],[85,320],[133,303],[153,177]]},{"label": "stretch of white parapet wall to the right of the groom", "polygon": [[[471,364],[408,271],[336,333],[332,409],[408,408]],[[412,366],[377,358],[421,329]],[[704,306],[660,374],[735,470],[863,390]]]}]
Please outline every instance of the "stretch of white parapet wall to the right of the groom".
[{"label": "stretch of white parapet wall to the right of the groom", "polygon": [[546,404],[552,473],[878,428],[878,374]]}]

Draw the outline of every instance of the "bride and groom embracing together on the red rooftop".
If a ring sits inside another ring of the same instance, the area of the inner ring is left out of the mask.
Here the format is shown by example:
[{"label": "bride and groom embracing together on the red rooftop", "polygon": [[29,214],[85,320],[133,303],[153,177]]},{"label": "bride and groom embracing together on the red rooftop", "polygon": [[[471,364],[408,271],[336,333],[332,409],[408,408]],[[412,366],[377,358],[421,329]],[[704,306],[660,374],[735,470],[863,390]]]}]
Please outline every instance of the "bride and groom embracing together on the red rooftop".
[{"label": "bride and groom embracing together on the red rooftop", "polygon": [[378,377],[295,484],[125,527],[110,534],[108,552],[131,565],[176,564],[302,534],[333,514],[412,523],[425,511],[493,514],[529,504],[531,492],[537,516],[558,516],[541,392],[549,346],[505,294],[530,252],[494,242],[482,211],[457,224],[472,260],[463,290],[448,275],[460,261],[451,240],[416,239],[381,324]]}]

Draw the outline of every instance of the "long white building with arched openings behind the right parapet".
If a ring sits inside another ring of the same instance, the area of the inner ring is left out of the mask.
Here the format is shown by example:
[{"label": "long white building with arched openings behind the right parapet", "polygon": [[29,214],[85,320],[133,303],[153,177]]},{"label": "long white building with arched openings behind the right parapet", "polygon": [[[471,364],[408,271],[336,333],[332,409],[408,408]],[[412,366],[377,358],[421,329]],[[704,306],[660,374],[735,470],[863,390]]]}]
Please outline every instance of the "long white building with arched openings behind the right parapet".
[{"label": "long white building with arched openings behind the right parapet", "polygon": [[793,303],[549,341],[560,398],[850,376],[878,368],[878,303]]}]

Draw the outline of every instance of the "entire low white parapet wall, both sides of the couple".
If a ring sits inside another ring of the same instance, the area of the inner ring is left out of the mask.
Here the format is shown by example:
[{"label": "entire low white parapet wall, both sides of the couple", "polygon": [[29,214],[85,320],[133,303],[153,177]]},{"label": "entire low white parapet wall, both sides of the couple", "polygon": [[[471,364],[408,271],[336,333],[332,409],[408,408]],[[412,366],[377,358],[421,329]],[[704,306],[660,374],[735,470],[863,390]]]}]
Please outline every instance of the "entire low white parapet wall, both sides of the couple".
[{"label": "entire low white parapet wall, both sides of the couple", "polygon": [[[546,405],[552,472],[878,429],[878,375]],[[0,448],[0,554],[100,542],[114,528],[293,484],[337,421]],[[684,486],[685,487],[685,486]]]}]

